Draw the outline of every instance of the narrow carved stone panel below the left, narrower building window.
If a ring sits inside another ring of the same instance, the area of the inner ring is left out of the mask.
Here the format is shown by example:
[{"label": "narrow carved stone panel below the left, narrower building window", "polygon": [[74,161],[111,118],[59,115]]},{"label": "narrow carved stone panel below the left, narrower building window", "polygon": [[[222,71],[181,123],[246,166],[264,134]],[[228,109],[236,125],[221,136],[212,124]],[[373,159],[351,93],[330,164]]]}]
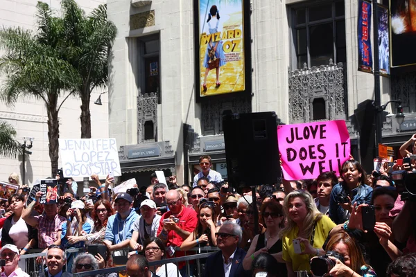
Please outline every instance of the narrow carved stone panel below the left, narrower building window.
[{"label": "narrow carved stone panel below the left, narrower building window", "polygon": [[[144,93],[137,96],[137,143],[144,143],[144,123],[152,121],[153,137],[157,134],[157,94]],[[155,141],[150,140],[150,141]],[[149,141],[147,141],[149,142]]]}]

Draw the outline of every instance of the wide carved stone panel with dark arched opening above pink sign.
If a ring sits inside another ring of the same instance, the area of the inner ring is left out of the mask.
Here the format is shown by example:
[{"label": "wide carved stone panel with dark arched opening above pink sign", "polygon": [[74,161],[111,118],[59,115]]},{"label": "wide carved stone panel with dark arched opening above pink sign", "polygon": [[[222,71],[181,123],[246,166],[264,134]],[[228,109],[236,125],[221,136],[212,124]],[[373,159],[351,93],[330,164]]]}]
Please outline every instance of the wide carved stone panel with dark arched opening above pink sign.
[{"label": "wide carved stone panel with dark arched opening above pink sign", "polygon": [[323,98],[327,118],[346,118],[346,76],[343,63],[313,66],[308,69],[289,71],[289,111],[291,123],[305,123],[313,120],[313,100]]}]

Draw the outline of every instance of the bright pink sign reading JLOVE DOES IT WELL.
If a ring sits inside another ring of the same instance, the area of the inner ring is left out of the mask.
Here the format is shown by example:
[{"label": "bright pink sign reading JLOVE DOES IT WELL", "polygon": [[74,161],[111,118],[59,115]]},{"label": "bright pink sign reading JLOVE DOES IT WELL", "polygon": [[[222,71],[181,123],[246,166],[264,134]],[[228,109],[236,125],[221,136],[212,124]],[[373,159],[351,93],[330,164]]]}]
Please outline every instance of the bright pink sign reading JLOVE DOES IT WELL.
[{"label": "bright pink sign reading JLOVE DOES IT WELL", "polygon": [[325,171],[339,176],[351,147],[344,120],[279,125],[277,141],[286,180],[313,179]]}]

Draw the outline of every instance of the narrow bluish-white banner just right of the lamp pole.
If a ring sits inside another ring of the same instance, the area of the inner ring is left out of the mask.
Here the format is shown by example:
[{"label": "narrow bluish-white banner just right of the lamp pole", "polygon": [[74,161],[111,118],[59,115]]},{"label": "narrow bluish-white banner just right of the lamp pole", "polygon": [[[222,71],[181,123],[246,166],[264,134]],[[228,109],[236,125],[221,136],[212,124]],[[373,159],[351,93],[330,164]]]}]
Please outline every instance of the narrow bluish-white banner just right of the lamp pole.
[{"label": "narrow bluish-white banner just right of the lamp pole", "polygon": [[377,25],[379,29],[380,74],[388,76],[390,75],[390,38],[388,28],[388,8],[379,4],[377,10]]}]

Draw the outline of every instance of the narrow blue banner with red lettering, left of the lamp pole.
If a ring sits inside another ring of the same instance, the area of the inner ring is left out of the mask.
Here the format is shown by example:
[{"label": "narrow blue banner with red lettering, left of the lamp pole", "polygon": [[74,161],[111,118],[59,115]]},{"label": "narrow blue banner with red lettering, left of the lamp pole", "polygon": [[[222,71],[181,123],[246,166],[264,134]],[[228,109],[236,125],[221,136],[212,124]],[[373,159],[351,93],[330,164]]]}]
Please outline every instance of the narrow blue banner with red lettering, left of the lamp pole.
[{"label": "narrow blue banner with red lettering, left of the lamp pole", "polygon": [[371,3],[358,0],[358,70],[372,73]]}]

